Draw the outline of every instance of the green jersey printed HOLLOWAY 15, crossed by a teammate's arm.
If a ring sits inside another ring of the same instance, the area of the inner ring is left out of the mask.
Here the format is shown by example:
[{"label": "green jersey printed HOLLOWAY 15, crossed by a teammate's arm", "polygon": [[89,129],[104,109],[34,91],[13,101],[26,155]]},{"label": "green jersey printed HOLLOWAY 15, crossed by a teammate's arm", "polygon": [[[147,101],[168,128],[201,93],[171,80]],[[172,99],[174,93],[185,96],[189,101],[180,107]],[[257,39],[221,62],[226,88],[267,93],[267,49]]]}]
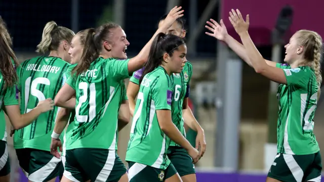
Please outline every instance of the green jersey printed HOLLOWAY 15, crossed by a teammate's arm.
[{"label": "green jersey printed HOLLOWAY 15, crossed by a teammate's arm", "polygon": [[[21,114],[35,108],[39,101],[55,98],[69,65],[57,57],[40,56],[24,61],[17,68]],[[51,134],[59,109],[54,107],[53,110],[39,115],[28,126],[17,130],[14,136],[15,149],[31,148],[50,151]]]}]

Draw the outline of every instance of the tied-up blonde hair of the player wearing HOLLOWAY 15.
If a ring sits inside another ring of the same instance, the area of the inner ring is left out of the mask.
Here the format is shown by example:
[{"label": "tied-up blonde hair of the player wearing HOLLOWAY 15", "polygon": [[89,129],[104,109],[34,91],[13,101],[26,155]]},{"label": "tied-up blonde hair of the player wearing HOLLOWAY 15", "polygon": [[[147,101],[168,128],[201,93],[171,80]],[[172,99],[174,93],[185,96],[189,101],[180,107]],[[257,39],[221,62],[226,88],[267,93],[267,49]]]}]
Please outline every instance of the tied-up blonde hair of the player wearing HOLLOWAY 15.
[{"label": "tied-up blonde hair of the player wearing HOLLOWAY 15", "polygon": [[37,53],[56,51],[62,40],[71,42],[74,32],[66,27],[58,26],[54,21],[48,22],[43,30],[42,41],[37,45]]}]

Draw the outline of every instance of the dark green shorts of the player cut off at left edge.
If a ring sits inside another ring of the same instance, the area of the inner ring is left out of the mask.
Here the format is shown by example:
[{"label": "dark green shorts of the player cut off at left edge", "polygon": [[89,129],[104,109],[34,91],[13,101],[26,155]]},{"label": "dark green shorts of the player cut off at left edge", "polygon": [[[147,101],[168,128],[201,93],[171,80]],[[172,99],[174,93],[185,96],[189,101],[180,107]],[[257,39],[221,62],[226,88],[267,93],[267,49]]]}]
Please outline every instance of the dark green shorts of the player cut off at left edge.
[{"label": "dark green shorts of the player cut off at left edge", "polygon": [[10,174],[10,159],[5,141],[0,141],[0,156],[0,176],[7,176]]}]

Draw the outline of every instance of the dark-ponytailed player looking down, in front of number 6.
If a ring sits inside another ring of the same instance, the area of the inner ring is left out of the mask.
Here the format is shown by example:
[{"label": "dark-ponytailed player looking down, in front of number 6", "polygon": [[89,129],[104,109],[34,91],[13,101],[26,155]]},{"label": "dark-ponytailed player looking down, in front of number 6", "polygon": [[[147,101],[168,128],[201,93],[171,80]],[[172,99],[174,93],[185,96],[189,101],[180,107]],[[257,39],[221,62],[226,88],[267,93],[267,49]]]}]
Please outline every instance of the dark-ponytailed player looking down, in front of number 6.
[{"label": "dark-ponytailed player looking down, in front of number 6", "polygon": [[172,122],[173,73],[185,66],[187,48],[182,38],[159,33],[140,78],[130,141],[126,153],[130,181],[182,181],[167,151],[170,139],[186,149],[193,162],[199,153]]}]

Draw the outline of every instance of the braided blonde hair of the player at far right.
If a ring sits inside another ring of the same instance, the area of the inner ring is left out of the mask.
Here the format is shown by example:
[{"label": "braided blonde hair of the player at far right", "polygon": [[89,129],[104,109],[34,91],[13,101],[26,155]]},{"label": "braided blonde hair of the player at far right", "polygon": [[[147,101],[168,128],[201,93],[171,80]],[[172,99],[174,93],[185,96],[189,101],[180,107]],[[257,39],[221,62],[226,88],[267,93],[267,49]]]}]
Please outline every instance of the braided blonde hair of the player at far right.
[{"label": "braided blonde hair of the player at far right", "polygon": [[307,61],[306,64],[310,65],[315,72],[318,84],[317,96],[319,96],[320,85],[322,83],[322,74],[320,69],[320,58],[323,50],[322,38],[317,32],[310,30],[299,30],[297,33],[297,39],[304,47],[304,59]]}]

